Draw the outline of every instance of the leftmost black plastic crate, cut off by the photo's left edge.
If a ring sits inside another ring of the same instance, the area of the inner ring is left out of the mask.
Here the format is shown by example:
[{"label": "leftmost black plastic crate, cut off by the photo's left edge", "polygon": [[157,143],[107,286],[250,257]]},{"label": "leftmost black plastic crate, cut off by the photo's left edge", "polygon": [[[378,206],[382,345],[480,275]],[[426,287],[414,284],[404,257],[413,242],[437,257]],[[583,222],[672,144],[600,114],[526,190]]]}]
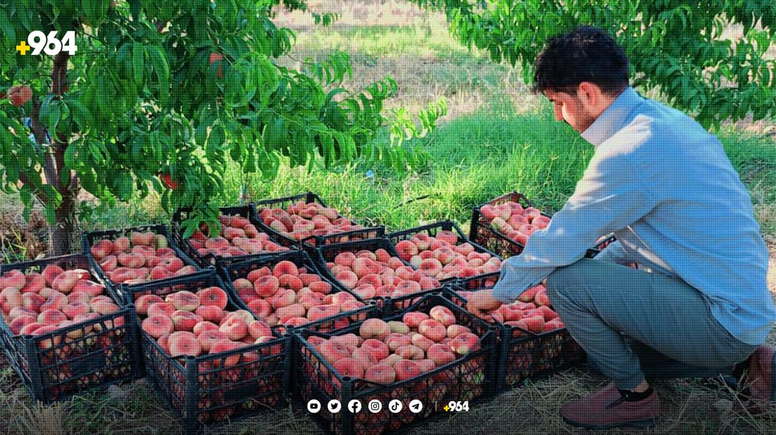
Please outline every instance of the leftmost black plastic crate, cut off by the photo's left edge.
[{"label": "leftmost black plastic crate, cut off by the photo's left edge", "polygon": [[143,377],[134,310],[99,279],[86,255],[0,265],[0,276],[11,270],[25,275],[42,272],[47,265],[58,265],[66,271],[87,270],[92,281],[105,286],[103,294],[119,309],[40,335],[14,334],[5,319],[0,318],[2,347],[29,396],[50,403]]}]

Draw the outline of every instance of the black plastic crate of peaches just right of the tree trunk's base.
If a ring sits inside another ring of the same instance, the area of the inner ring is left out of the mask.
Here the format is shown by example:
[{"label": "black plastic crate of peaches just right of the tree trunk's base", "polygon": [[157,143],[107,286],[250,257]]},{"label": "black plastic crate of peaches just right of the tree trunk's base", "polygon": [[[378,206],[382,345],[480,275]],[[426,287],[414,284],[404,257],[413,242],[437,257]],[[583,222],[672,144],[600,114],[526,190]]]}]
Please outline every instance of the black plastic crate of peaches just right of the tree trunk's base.
[{"label": "black plastic crate of peaches just right of the tree trunk's base", "polygon": [[[150,279],[150,276],[147,276],[147,277],[144,278],[144,279],[147,279],[147,281],[144,281],[143,283],[130,283],[130,284],[127,284],[126,280],[121,280],[122,282],[116,283],[115,281],[110,279],[109,273],[110,272],[115,272],[116,269],[119,269],[121,266],[118,265],[118,264],[114,264],[113,265],[114,266],[113,269],[110,269],[110,270],[103,269],[103,267],[100,265],[101,263],[97,259],[95,259],[94,255],[92,255],[92,246],[94,246],[96,243],[98,243],[99,241],[101,241],[103,239],[109,239],[110,241],[116,241],[116,239],[120,238],[120,237],[128,237],[129,238],[135,232],[147,233],[149,231],[153,232],[155,235],[163,236],[165,238],[165,240],[166,240],[166,243],[167,243],[167,246],[165,248],[169,248],[169,249],[172,250],[172,252],[175,252],[175,256],[177,256],[178,259],[180,259],[182,261],[181,268],[177,269],[177,272],[174,272],[173,276],[175,276],[175,273],[179,273],[181,275],[186,275],[186,274],[189,274],[189,273],[193,273],[193,272],[197,272],[199,270],[202,270],[202,267],[199,265],[199,263],[196,262],[195,259],[192,259],[191,256],[189,256],[185,252],[183,252],[182,249],[178,246],[178,243],[175,241],[175,237],[172,235],[171,231],[169,231],[167,225],[160,225],[160,224],[157,224],[157,225],[143,225],[143,226],[140,226],[140,227],[125,228],[125,229],[121,229],[121,230],[93,231],[93,232],[85,234],[83,236],[83,238],[82,238],[84,252],[86,253],[86,255],[88,255],[90,261],[94,265],[94,268],[98,272],[99,277],[102,280],[107,281],[107,282],[113,284],[114,288],[116,289],[116,291],[118,293],[121,293],[122,289],[125,288],[125,287],[132,288],[133,286],[137,286],[137,285],[140,285],[140,284],[164,281],[165,279],[169,279],[169,277],[168,278],[163,278],[163,279]],[[134,243],[131,244],[131,246],[134,246],[134,245],[135,245]],[[158,252],[159,249],[161,249],[161,248],[156,248],[156,252]],[[145,266],[145,265],[148,264],[147,263],[148,256],[145,255],[144,259],[146,261],[146,263],[144,263],[144,266]],[[138,268],[135,268],[135,269],[138,269]],[[181,272],[181,271],[184,271],[184,270],[185,270],[185,272]],[[119,296],[123,297],[123,294],[119,294]]]}]

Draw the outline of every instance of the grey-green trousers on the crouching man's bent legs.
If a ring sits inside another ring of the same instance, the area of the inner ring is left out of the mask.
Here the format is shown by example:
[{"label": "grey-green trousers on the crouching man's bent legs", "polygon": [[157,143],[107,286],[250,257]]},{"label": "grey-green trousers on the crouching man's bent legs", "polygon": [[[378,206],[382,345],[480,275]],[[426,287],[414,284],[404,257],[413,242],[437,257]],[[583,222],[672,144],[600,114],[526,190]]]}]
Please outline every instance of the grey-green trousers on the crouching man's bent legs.
[{"label": "grey-green trousers on the crouching man's bent legs", "polygon": [[660,273],[581,259],[550,274],[547,293],[588,361],[619,389],[646,377],[729,375],[757,349],[730,335],[697,289]]}]

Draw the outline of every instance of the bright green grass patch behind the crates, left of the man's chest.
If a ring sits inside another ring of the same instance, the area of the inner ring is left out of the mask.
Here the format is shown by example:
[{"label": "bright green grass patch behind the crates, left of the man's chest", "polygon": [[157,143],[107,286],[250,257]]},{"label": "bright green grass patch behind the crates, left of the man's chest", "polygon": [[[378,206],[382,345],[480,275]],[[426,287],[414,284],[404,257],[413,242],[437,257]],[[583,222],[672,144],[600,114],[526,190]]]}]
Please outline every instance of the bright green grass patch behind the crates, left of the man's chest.
[{"label": "bright green grass patch behind the crates, left of the man's chest", "polygon": [[[424,139],[432,159],[421,173],[363,162],[335,173],[286,168],[272,183],[251,183],[251,196],[313,190],[343,213],[390,229],[439,219],[465,223],[473,206],[512,190],[556,211],[573,191],[592,147],[547,113],[483,109],[446,122]],[[366,176],[370,169],[372,178]]]}]

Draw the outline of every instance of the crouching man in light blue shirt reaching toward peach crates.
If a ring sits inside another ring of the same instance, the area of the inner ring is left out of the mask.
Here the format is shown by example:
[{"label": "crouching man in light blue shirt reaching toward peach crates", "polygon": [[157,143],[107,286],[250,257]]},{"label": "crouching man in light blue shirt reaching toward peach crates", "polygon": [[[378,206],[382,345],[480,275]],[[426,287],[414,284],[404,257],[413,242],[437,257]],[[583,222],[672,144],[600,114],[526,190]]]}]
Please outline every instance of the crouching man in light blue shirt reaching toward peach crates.
[{"label": "crouching man in light blue shirt reaching toward peach crates", "polygon": [[[573,425],[650,426],[660,401],[645,378],[657,355],[668,376],[731,373],[754,399],[774,398],[776,320],[768,252],[750,196],[722,146],[681,111],[629,87],[628,60],[600,29],[549,39],[535,91],[595,147],[582,179],[549,226],[503,264],[483,314],[546,279],[553,308],[611,384],[566,403]],[[614,232],[596,259],[587,248]],[[632,269],[626,264],[639,265]],[[645,351],[646,350],[646,351]]]}]

